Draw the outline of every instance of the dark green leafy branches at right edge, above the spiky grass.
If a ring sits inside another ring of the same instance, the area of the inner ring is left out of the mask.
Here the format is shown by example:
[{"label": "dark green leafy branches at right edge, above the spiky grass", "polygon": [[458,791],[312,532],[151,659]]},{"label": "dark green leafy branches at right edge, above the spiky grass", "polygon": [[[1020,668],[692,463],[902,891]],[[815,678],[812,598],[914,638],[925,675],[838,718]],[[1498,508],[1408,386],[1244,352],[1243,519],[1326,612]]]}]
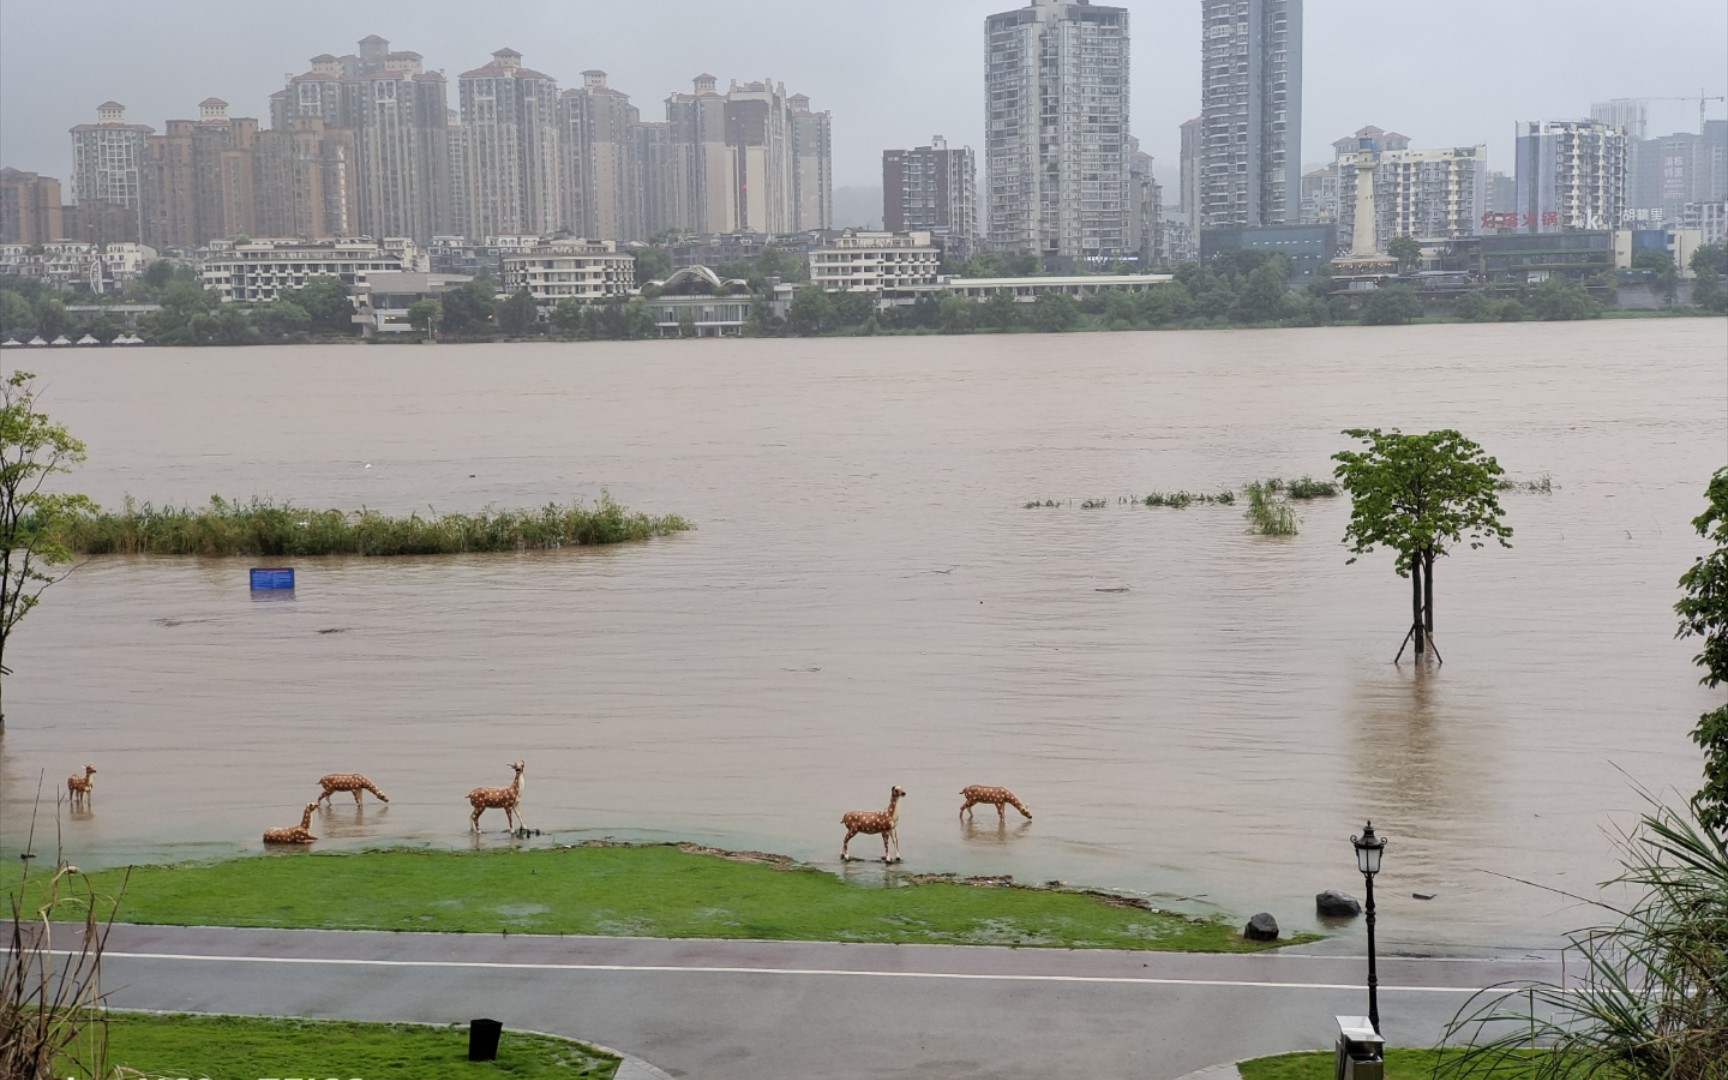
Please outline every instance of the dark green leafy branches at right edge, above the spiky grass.
[{"label": "dark green leafy branches at right edge, above the spiky grass", "polygon": [[[1692,527],[1714,548],[1680,575],[1685,596],[1674,612],[1680,638],[1704,639],[1693,664],[1704,669],[1699,681],[1714,689],[1728,683],[1728,467],[1711,477],[1706,498],[1709,505]],[[1728,705],[1699,717],[1692,741],[1704,750],[1704,786],[1692,809],[1706,828],[1728,836]]]}]

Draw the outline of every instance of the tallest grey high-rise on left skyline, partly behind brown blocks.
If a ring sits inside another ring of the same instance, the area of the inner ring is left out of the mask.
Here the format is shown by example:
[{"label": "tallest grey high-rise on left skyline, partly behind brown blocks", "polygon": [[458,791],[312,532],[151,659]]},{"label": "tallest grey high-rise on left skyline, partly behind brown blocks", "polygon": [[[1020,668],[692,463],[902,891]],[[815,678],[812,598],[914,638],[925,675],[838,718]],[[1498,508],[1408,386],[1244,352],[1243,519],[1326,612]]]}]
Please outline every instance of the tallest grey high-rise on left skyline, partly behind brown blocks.
[{"label": "tallest grey high-rise on left skyline, partly behind brown blocks", "polygon": [[353,226],[370,237],[427,244],[453,226],[448,88],[422,60],[370,35],[358,54],[313,57],[270,100],[271,130],[318,118],[354,133]]}]

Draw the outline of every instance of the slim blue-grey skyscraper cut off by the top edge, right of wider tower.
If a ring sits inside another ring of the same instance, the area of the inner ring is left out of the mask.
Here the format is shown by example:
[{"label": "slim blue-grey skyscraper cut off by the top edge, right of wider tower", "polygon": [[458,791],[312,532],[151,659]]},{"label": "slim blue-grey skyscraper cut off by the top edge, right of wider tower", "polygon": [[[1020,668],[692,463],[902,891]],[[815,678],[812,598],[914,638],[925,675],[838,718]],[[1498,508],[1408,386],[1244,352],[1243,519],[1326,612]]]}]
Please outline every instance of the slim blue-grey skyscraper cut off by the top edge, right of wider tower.
[{"label": "slim blue-grey skyscraper cut off by the top edge, right of wider tower", "polygon": [[1301,0],[1201,0],[1199,226],[1299,216]]}]

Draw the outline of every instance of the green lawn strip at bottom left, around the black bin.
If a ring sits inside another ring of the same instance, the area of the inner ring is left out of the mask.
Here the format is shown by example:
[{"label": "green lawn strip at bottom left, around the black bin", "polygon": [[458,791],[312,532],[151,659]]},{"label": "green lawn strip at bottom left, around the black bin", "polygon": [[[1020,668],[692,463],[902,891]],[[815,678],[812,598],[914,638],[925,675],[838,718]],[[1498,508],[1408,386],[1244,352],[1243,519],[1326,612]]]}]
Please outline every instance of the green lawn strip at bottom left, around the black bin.
[{"label": "green lawn strip at bottom left, around the black bin", "polygon": [[[107,1030],[109,1075],[112,1066],[126,1066],[152,1078],[608,1080],[619,1070],[610,1054],[508,1028],[498,1044],[498,1061],[468,1061],[467,1025],[114,1013]],[[90,1071],[67,1058],[55,1077],[88,1080]]]}]

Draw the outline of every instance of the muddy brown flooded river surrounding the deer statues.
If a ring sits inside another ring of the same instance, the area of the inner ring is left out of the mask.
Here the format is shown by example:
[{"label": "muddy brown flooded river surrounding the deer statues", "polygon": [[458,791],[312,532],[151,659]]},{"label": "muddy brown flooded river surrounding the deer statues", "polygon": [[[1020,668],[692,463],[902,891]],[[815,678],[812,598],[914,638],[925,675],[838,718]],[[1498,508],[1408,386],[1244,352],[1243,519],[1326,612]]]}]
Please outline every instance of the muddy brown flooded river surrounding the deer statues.
[{"label": "muddy brown flooded river surrounding the deer statues", "polygon": [[[301,560],[285,601],[252,600],[256,560],[88,560],[7,651],[7,859],[256,852],[334,771],[392,802],[339,797],[320,850],[506,845],[496,812],[470,842],[465,793],[524,759],[529,843],[695,840],[880,883],[840,869],[838,821],[900,785],[907,871],[1298,930],[1315,892],[1362,893],[1350,835],[1372,817],[1384,942],[1540,947],[1597,916],[1512,878],[1609,876],[1636,785],[1697,790],[1687,733],[1719,696],[1671,607],[1728,461],[1725,320],[17,363],[88,442],[73,486],[111,506],[605,489],[698,529]],[[1439,669],[1391,664],[1408,586],[1389,553],[1346,565],[1346,499],[1279,539],[1239,505],[1118,503],[1324,475],[1356,425],[1457,427],[1553,480],[1503,496],[1512,550],[1439,563]],[[83,762],[93,810],[55,823]],[[1037,819],[956,821],[975,783]]]}]

